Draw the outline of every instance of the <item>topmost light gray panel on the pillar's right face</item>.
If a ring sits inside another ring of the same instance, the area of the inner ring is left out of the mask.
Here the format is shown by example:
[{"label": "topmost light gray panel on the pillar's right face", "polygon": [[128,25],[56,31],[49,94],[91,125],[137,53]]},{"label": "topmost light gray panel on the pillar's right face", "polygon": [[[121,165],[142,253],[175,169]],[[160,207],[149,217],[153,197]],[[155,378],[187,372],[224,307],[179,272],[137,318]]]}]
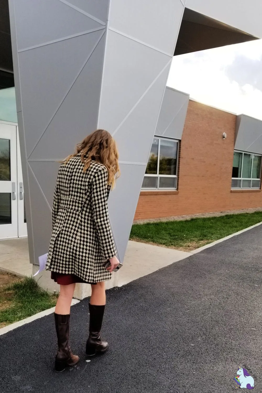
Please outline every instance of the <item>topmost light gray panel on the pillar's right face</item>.
[{"label": "topmost light gray panel on the pillar's right face", "polygon": [[172,55],[183,10],[180,0],[111,0],[109,27]]}]

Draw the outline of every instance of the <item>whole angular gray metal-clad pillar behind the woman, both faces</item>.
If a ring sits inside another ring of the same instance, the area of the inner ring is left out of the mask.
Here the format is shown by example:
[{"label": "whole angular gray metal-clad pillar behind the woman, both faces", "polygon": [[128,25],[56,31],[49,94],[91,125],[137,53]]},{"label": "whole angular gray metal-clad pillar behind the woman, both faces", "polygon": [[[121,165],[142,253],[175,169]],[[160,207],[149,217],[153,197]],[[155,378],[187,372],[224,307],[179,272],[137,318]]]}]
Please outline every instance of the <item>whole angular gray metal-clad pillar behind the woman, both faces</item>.
[{"label": "whole angular gray metal-clad pillar behind the woman, both faces", "polygon": [[32,263],[49,244],[57,161],[98,127],[119,147],[122,176],[108,204],[123,261],[184,6],[111,0],[109,14],[108,6],[9,0]]}]

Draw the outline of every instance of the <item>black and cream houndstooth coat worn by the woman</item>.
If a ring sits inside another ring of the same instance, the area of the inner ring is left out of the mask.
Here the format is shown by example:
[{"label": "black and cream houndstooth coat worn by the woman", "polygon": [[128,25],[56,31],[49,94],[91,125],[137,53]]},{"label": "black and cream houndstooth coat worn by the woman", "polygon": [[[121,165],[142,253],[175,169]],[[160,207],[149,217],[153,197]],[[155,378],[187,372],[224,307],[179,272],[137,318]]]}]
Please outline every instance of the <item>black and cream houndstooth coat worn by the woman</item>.
[{"label": "black and cream houndstooth coat worn by the woman", "polygon": [[75,274],[89,283],[109,280],[103,262],[117,255],[108,218],[106,167],[80,153],[59,168],[53,201],[53,231],[46,270]]}]

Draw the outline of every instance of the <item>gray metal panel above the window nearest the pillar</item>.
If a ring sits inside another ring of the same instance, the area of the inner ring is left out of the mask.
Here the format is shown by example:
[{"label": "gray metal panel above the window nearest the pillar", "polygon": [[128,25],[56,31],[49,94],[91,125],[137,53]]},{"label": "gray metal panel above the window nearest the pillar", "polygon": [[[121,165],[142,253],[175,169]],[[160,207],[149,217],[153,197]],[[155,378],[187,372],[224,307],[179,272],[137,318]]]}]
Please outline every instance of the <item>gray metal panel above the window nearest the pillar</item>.
[{"label": "gray metal panel above the window nearest the pillar", "polygon": [[181,140],[188,103],[189,94],[166,87],[155,135]]}]

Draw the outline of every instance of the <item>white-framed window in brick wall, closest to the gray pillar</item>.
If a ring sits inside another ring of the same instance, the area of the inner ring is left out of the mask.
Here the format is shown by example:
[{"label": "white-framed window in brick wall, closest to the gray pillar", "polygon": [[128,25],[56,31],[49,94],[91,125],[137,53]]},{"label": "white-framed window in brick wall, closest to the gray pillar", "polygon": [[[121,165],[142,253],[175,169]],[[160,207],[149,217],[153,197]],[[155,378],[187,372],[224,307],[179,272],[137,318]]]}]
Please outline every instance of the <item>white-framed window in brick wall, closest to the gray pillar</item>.
[{"label": "white-framed window in brick wall, closest to the gray pillar", "polygon": [[154,138],[143,180],[143,189],[176,189],[178,141]]}]

